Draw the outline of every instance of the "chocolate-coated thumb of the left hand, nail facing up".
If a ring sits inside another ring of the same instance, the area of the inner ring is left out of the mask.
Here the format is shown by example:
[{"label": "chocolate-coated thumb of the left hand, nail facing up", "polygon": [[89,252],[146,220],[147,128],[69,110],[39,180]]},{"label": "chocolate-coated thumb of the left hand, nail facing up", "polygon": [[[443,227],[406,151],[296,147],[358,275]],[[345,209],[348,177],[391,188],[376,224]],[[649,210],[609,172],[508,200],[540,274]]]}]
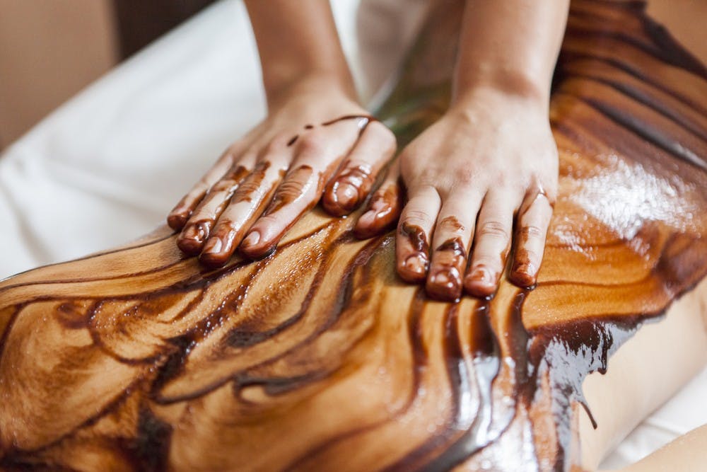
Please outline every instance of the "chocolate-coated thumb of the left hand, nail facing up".
[{"label": "chocolate-coated thumb of the left hand, nail facing up", "polygon": [[344,165],[329,181],[322,205],[329,214],[341,217],[363,202],[380,168],[395,154],[395,135],[380,122],[371,122]]}]

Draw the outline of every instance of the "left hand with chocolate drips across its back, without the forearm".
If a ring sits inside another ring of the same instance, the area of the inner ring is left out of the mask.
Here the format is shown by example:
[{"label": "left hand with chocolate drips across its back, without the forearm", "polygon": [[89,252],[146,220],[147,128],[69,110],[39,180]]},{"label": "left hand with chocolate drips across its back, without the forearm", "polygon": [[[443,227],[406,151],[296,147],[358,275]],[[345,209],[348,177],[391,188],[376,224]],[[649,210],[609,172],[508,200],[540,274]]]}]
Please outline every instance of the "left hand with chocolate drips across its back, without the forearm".
[{"label": "left hand with chocolate drips across its back, without the forearm", "polygon": [[322,194],[327,212],[348,214],[395,154],[392,132],[336,87],[300,82],[270,110],[168,216],[177,246],[206,265],[225,264],[239,245],[267,255]]}]

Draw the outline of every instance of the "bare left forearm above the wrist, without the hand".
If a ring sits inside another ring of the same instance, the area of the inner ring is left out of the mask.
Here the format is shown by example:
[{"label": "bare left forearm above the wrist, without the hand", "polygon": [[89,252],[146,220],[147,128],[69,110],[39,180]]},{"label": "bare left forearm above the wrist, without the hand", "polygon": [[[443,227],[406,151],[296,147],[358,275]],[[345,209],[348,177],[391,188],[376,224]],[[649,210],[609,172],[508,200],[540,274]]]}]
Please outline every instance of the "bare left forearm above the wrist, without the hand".
[{"label": "bare left forearm above the wrist, without the hand", "polygon": [[315,78],[320,87],[355,96],[327,0],[246,0],[257,40],[268,103],[291,85]]}]

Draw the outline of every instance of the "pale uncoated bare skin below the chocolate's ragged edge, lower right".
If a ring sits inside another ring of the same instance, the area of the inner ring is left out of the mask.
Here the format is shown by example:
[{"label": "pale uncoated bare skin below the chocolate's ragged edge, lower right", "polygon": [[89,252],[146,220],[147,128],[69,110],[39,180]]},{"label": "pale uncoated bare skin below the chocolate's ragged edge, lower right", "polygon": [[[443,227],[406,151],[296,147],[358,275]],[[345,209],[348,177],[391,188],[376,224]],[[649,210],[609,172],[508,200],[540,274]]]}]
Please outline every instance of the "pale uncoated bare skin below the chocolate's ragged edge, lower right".
[{"label": "pale uncoated bare skin below the chocolate's ragged edge, lower right", "polygon": [[[674,301],[664,318],[645,323],[609,360],[606,374],[595,372],[583,392],[597,429],[578,406],[581,459],[586,471],[597,471],[602,459],[638,422],[672,398],[707,364],[707,280]],[[670,346],[679,340],[679,349]],[[692,408],[703,408],[696,403]],[[703,471],[707,426],[699,427],[658,449],[626,472]],[[606,472],[606,471],[602,471]]]}]

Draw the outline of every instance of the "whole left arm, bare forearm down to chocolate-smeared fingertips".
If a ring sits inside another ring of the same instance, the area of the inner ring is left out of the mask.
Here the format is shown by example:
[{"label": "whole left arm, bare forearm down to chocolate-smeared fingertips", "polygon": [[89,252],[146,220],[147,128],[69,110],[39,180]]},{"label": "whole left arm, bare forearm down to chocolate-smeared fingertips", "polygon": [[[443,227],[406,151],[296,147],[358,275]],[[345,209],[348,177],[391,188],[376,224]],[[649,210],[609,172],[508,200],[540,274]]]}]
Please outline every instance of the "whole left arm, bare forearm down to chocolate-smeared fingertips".
[{"label": "whole left arm, bare forearm down to chocolate-smeared fingertips", "polygon": [[[356,100],[327,0],[249,0],[268,117],[233,143],[168,216],[206,265],[261,258],[317,205],[353,211],[395,137]],[[348,117],[339,120],[341,117]]]}]

